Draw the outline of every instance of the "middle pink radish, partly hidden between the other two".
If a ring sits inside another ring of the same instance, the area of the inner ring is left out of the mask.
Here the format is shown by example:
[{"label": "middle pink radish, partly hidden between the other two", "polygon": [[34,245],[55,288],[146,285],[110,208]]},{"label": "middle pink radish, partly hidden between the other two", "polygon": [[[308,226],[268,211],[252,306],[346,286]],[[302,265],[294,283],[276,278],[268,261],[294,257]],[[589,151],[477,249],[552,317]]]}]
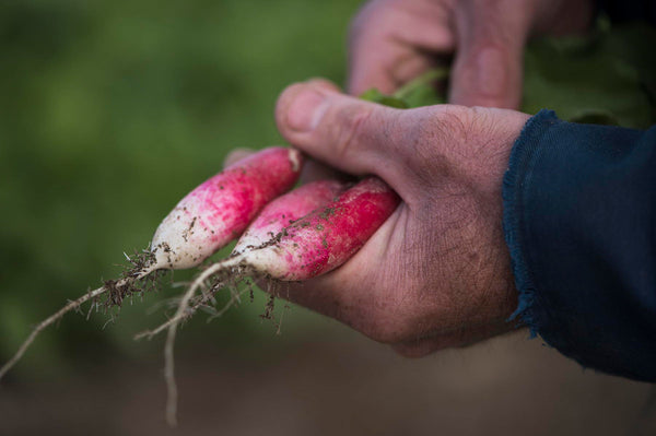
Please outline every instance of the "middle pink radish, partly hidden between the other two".
[{"label": "middle pink radish, partly hidden between the other two", "polygon": [[319,209],[347,189],[337,180],[319,180],[303,185],[271,201],[248,226],[237,241],[233,255],[266,244],[294,221]]}]

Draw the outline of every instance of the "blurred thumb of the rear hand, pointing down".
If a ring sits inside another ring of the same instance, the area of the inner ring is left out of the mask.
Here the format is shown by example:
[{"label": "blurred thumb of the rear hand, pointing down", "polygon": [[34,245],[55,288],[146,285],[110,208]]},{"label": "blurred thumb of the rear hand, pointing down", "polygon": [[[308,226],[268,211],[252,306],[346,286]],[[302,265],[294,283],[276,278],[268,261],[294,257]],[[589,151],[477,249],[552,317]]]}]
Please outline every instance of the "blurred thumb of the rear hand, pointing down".
[{"label": "blurred thumb of the rear hand, pointing down", "polygon": [[526,42],[524,20],[516,16],[520,14],[495,11],[492,4],[471,8],[459,17],[449,102],[517,109]]}]

